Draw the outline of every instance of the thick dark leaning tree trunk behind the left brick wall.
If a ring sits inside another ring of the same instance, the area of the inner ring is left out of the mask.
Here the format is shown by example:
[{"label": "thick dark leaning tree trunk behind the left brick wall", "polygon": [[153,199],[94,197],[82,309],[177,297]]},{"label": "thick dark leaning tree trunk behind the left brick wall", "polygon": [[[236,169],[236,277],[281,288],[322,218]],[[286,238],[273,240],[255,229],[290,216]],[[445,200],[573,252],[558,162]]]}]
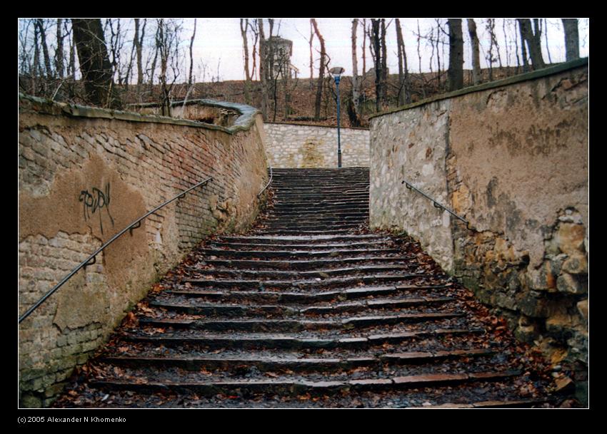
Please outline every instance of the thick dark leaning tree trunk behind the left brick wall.
[{"label": "thick dark leaning tree trunk behind the left brick wall", "polygon": [[74,43],[87,98],[95,105],[119,108],[100,19],[72,19]]}]

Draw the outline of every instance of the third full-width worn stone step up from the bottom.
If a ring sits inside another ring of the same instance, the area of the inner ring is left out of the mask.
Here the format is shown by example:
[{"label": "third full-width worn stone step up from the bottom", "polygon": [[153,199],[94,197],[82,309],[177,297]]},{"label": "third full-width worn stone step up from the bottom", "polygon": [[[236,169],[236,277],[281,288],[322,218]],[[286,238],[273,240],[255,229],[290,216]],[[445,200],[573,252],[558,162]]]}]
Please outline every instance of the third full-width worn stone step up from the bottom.
[{"label": "third full-width worn stone step up from the bottom", "polygon": [[124,334],[122,339],[135,343],[151,343],[156,346],[200,346],[203,348],[282,348],[282,349],[362,349],[383,346],[386,343],[403,343],[415,339],[440,338],[443,336],[467,336],[485,333],[484,329],[435,329],[431,331],[408,331],[401,333],[370,334],[357,337],[327,338],[296,337],[286,334],[207,334],[206,336],[140,336]]}]

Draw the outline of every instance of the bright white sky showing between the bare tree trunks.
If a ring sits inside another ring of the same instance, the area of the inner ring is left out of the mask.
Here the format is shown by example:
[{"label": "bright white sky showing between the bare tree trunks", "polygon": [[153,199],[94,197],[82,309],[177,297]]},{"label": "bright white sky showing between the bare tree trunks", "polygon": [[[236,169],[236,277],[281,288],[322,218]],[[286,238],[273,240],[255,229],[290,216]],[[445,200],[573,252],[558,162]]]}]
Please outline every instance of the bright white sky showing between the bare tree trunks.
[{"label": "bright white sky showing between the bare tree trunks", "polygon": [[[418,71],[418,53],[417,53],[417,37],[413,31],[417,31],[417,25],[419,22],[420,31],[425,34],[428,29],[435,24],[434,19],[409,19],[403,18],[401,20],[401,28],[403,29],[403,38],[405,40],[405,46],[407,51],[409,70]],[[342,66],[346,69],[344,75],[348,76],[352,73],[352,58],[351,58],[351,21],[352,19],[344,18],[330,18],[330,19],[316,19],[318,23],[318,30],[321,32],[326,42],[326,51],[328,56],[331,57],[331,66]],[[386,19],[386,23],[390,22],[391,19]],[[476,26],[479,33],[479,39],[481,40],[481,51],[483,48],[488,48],[489,38],[488,33],[484,29],[484,22],[482,19],[475,19]],[[580,19],[580,40],[581,48],[580,54],[582,57],[588,56],[588,21],[586,19]],[[398,71],[398,57],[396,54],[396,30],[395,22],[391,21],[387,29],[386,44],[388,49],[388,68],[391,73]],[[194,28],[193,19],[185,19],[184,21],[184,38],[189,40],[191,31]],[[279,28],[279,36],[290,39],[293,41],[293,56],[291,63],[296,68],[299,68],[299,77],[308,78],[310,76],[309,71],[309,46],[307,39],[310,35],[310,19],[308,18],[295,18],[295,19],[276,19],[275,21],[275,33],[276,29]],[[496,33],[498,41],[503,41],[503,20],[496,19]],[[513,35],[516,31],[514,26],[507,26],[506,32],[508,35]],[[266,33],[268,33],[268,25],[266,21]],[[464,68],[471,68],[470,53],[468,48],[468,28],[466,20],[463,20],[463,34],[464,34]],[[267,36],[267,34],[266,34]],[[561,25],[561,19],[548,19],[548,50],[550,51],[551,60],[553,62],[559,62],[565,60],[565,48],[564,48],[564,37]],[[318,42],[315,38],[316,49],[319,50]],[[445,41],[448,41],[445,38]],[[363,43],[362,24],[358,24],[358,73],[361,73],[362,68],[362,55],[361,46]],[[514,46],[513,41],[511,47],[508,47],[506,52],[506,46],[500,47],[501,58],[503,64],[506,64],[506,57],[509,55],[509,64],[516,66],[516,58],[514,57]],[[249,41],[249,50],[251,51],[252,41]],[[546,50],[546,38],[542,36],[542,49],[544,60],[548,62],[548,52]],[[520,50],[520,48],[519,48]],[[443,56],[444,54],[444,56]],[[431,48],[426,42],[422,42],[421,45],[422,55],[422,67],[421,71],[429,71],[429,63],[431,58]],[[318,66],[318,58],[320,54],[315,50],[314,58],[316,59],[316,67]],[[443,64],[443,58],[448,58],[448,46],[443,46],[440,53],[441,66]],[[240,32],[239,19],[237,18],[226,18],[226,19],[197,19],[196,22],[196,41],[194,44],[194,58],[195,64],[200,65],[203,61],[206,65],[206,74],[203,77],[203,71],[199,69],[198,79],[204,81],[211,81],[211,78],[217,78],[226,80],[243,80],[244,79],[244,59],[243,59],[243,47],[242,38]],[[198,60],[196,60],[198,59]],[[368,52],[368,38],[367,38],[367,70],[373,66],[371,59],[371,53]],[[487,62],[483,59],[481,54],[481,67],[486,68]],[[436,56],[434,56],[434,66],[436,70]],[[443,68],[446,69],[446,68]],[[196,69],[195,69],[196,71]],[[218,73],[219,72],[219,73]],[[315,74],[317,71],[315,71]],[[316,75],[315,75],[316,76]]]}]

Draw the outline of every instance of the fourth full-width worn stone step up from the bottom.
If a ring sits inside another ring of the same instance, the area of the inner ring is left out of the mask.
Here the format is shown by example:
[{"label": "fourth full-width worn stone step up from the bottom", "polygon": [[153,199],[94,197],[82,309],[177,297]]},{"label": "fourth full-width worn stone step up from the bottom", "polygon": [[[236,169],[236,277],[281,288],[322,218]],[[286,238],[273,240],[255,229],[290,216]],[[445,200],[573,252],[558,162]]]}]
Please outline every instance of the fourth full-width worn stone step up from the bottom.
[{"label": "fourth full-width worn stone step up from the bottom", "polygon": [[461,313],[436,312],[429,314],[397,314],[353,316],[347,319],[302,320],[302,319],[156,319],[141,318],[141,326],[186,328],[206,331],[306,331],[306,330],[347,330],[361,327],[413,324],[465,316]]}]

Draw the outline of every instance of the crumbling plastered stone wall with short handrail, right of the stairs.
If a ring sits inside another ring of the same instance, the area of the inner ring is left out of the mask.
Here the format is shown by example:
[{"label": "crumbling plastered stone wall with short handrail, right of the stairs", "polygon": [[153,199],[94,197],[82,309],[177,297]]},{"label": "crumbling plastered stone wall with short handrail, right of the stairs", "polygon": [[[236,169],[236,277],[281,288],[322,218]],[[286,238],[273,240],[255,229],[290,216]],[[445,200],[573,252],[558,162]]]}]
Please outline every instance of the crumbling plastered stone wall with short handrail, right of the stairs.
[{"label": "crumbling plastered stone wall with short handrail, right of the stairs", "polygon": [[[588,60],[373,118],[370,171],[371,227],[420,239],[520,339],[538,344],[553,363],[575,366],[583,388]],[[406,190],[402,179],[475,230]]]}]

